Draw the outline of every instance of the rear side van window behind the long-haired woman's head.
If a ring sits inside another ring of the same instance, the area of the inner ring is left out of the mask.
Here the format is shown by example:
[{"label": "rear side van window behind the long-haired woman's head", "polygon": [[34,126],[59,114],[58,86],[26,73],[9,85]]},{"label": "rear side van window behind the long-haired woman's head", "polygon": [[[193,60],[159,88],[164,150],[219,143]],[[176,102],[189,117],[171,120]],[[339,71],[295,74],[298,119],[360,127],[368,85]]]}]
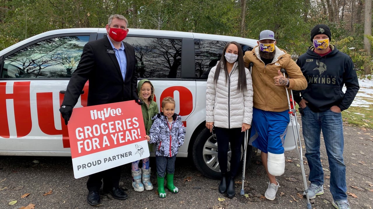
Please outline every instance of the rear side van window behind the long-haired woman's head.
[{"label": "rear side van window behind the long-haired woman's head", "polygon": [[[194,39],[196,79],[207,79],[211,68],[222,57],[222,52],[226,44],[228,44],[226,41]],[[253,49],[247,45],[240,45],[244,54],[246,51]]]}]

